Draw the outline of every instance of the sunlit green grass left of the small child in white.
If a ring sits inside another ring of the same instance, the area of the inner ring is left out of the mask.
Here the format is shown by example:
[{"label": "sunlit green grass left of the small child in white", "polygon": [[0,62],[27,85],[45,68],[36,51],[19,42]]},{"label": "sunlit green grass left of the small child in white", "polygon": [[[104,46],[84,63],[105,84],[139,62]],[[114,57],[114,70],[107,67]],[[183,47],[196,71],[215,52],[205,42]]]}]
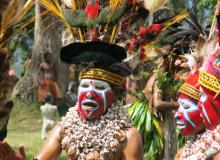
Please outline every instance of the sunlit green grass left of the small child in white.
[{"label": "sunlit green grass left of the small child in white", "polygon": [[[8,123],[5,140],[15,150],[23,145],[27,160],[31,160],[44,144],[44,140],[41,140],[42,116],[39,108],[39,104],[27,106],[16,101]],[[65,159],[62,153],[60,160]]]}]

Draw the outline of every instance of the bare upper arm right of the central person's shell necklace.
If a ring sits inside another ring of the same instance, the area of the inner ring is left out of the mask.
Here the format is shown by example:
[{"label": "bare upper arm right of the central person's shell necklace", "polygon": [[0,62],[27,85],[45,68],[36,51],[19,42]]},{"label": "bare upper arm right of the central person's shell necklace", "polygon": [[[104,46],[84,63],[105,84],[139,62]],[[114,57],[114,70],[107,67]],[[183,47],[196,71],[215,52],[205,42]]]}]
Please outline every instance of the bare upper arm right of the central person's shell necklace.
[{"label": "bare upper arm right of the central person's shell necklace", "polygon": [[123,150],[123,160],[143,160],[144,149],[141,136],[135,128],[126,131],[127,144]]}]

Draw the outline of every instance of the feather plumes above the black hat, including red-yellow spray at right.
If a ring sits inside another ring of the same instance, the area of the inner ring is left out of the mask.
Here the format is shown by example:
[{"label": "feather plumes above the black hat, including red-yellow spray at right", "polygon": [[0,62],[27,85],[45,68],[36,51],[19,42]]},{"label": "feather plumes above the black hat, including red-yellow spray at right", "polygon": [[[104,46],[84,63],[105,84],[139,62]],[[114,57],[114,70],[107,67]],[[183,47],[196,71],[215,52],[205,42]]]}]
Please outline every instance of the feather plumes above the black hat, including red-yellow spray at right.
[{"label": "feather plumes above the black hat, including red-yellow spray at right", "polygon": [[[136,48],[154,40],[163,29],[188,16],[188,12],[184,11],[166,23],[143,27],[149,12],[143,8],[144,5],[139,5],[140,1],[62,0],[60,5],[57,0],[40,0],[40,3],[61,19],[72,36],[63,33],[63,37],[71,37],[69,41],[67,38],[62,39],[64,46],[72,42],[104,41],[126,46],[126,49],[135,48],[136,52]],[[135,23],[143,17],[142,23]],[[141,26],[143,28],[139,30]],[[137,42],[135,37],[138,37]],[[131,39],[134,42],[129,47],[126,40]]]}]

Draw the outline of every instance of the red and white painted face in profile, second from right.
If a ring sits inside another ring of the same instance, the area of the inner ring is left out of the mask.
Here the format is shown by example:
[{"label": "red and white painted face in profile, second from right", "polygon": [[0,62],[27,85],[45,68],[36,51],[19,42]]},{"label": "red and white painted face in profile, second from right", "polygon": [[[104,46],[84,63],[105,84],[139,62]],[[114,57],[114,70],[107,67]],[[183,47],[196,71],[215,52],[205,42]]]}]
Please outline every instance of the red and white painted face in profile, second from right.
[{"label": "red and white painted face in profile, second from right", "polygon": [[178,102],[180,107],[175,113],[175,119],[181,134],[186,136],[200,131],[204,125],[197,102],[190,98],[179,98]]}]

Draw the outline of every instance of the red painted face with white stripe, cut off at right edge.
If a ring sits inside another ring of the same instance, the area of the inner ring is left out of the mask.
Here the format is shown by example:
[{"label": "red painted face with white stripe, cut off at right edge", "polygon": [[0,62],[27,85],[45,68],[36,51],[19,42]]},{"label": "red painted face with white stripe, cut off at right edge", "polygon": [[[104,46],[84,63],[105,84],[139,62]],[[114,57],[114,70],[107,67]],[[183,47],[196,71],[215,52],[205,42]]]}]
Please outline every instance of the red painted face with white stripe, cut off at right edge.
[{"label": "red painted face with white stripe, cut off at right edge", "polygon": [[216,93],[204,87],[200,87],[200,91],[202,96],[198,104],[202,110],[206,128],[214,129],[220,123],[220,97],[215,98]]}]

